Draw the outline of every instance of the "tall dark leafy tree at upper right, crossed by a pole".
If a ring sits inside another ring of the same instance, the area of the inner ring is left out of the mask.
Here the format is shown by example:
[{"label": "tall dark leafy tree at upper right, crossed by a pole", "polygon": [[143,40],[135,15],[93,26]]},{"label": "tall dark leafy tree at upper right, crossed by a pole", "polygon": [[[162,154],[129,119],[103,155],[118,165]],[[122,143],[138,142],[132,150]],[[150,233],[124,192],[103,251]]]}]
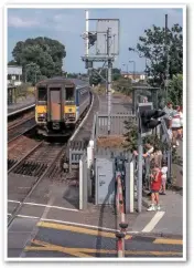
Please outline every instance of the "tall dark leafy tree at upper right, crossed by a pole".
[{"label": "tall dark leafy tree at upper right, crossed by a pole", "polygon": [[[139,38],[137,50],[140,56],[147,58],[147,74],[151,76],[150,83],[164,86],[166,71],[166,55],[169,55],[169,75],[183,71],[183,34],[182,27],[174,24],[168,29],[153,25],[152,29],[144,30],[146,35]],[[165,50],[165,43],[168,50]],[[166,52],[168,51],[168,52]]]}]

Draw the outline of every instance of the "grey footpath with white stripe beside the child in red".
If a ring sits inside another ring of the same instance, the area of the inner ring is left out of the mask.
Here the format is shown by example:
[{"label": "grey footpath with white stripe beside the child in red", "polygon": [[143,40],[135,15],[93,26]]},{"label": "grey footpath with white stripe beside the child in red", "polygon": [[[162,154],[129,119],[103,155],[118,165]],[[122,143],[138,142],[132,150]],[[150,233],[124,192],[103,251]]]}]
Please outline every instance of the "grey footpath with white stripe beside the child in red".
[{"label": "grey footpath with white stripe beside the child in red", "polygon": [[[177,154],[183,157],[182,142]],[[150,197],[147,196],[148,192],[143,193],[143,209],[133,224],[133,231],[164,237],[183,237],[183,167],[173,165],[172,174],[176,176],[175,187],[166,190],[166,195],[160,195],[160,212],[147,212]],[[184,226],[184,228],[186,227]]]}]

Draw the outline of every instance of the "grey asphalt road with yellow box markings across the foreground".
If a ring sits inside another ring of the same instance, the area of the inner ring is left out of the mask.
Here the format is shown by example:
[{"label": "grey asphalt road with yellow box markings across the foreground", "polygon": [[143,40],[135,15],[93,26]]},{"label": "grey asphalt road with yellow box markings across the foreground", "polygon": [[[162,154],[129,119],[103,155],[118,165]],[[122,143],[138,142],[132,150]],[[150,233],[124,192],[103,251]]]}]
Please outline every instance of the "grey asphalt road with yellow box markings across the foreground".
[{"label": "grey asphalt road with yellow box markings across the foreground", "polygon": [[[23,237],[23,244],[11,239],[15,233],[20,234],[20,240]],[[28,244],[26,236],[31,238]],[[182,239],[127,234],[125,254],[129,258],[182,258]],[[8,255],[10,258],[117,257],[117,239],[114,231],[94,227],[18,218],[18,223],[10,228]]]}]

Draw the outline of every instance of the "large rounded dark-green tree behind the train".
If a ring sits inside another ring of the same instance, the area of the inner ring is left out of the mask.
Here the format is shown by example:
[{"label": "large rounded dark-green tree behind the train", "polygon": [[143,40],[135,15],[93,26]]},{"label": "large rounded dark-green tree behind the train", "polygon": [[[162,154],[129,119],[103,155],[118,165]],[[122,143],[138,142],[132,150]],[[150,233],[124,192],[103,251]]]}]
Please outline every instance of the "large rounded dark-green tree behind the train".
[{"label": "large rounded dark-green tree behind the train", "polygon": [[25,74],[28,65],[36,65],[37,76],[52,78],[62,75],[63,58],[66,56],[65,47],[57,40],[48,38],[26,39],[24,42],[19,41],[12,55],[17,65],[22,65],[24,76],[28,76],[30,82],[34,79]]}]

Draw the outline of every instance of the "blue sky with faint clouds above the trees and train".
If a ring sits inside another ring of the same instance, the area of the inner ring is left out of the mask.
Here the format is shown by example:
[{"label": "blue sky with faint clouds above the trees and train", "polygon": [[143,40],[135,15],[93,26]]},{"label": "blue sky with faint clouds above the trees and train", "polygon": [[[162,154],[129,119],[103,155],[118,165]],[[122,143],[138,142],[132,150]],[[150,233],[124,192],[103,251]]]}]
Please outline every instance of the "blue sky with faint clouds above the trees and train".
[{"label": "blue sky with faint clouds above the trees and train", "polygon": [[[146,60],[128,48],[136,48],[139,37],[144,30],[164,27],[165,14],[169,16],[169,28],[175,23],[183,25],[182,9],[88,9],[89,18],[119,19],[119,55],[114,66],[122,71],[132,72],[136,61],[136,71],[143,72]],[[94,21],[89,30],[96,30]],[[58,40],[65,45],[66,58],[63,60],[63,70],[67,72],[85,73],[85,64],[80,56],[85,54],[84,9],[8,9],[8,61],[12,60],[12,50],[18,41],[28,38],[47,37]],[[126,64],[126,65],[123,65]],[[98,64],[99,65],[99,64]],[[95,66],[98,66],[95,64]],[[101,64],[100,64],[101,65]]]}]

